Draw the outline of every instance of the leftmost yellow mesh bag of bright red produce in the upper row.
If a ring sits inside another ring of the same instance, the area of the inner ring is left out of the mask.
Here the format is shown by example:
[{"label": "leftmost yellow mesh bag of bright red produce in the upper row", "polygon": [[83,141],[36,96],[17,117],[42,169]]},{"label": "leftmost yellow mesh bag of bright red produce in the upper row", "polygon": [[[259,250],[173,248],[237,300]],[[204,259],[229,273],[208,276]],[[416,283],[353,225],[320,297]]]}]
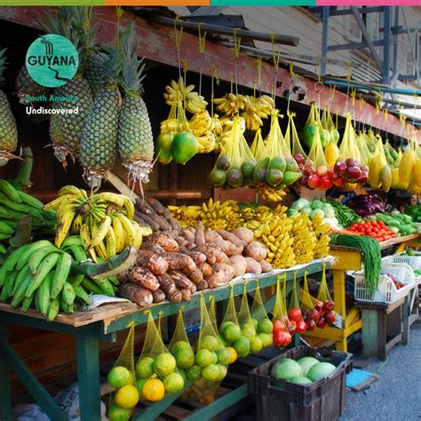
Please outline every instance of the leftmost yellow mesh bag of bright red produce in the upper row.
[{"label": "leftmost yellow mesh bag of bright red produce in the upper row", "polygon": [[333,173],[328,168],[320,141],[319,127],[315,126],[313,144],[304,167],[304,175],[299,180],[300,186],[327,190],[333,186]]}]

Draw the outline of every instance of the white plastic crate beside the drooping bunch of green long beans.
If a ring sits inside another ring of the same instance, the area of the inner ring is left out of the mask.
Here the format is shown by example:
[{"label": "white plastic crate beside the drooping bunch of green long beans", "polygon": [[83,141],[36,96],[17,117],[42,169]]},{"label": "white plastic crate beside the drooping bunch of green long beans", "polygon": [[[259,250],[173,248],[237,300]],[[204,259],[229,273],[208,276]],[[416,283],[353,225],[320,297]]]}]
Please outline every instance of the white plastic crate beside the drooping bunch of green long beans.
[{"label": "white plastic crate beside the drooping bunch of green long beans", "polygon": [[[386,274],[392,274],[405,286],[397,290],[392,279]],[[353,275],[355,277],[353,292],[356,301],[393,304],[405,297],[415,283],[415,274],[409,265],[389,263],[389,260],[385,259],[382,259],[382,274],[378,280],[378,288],[374,292],[367,290],[363,272],[355,272]]]}]

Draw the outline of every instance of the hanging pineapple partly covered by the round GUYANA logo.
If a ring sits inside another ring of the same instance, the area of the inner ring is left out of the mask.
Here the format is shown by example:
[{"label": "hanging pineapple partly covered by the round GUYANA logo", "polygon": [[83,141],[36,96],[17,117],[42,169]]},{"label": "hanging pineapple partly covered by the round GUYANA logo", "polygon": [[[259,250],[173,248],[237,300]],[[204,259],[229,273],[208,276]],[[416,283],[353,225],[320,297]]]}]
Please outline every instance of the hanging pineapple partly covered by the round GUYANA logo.
[{"label": "hanging pineapple partly covered by the round GUYANA logo", "polygon": [[79,52],[81,65],[75,77],[54,90],[54,96],[77,97],[75,101],[55,101],[52,107],[75,109],[77,114],[54,114],[50,123],[50,136],[54,155],[66,167],[67,157],[75,162],[79,153],[79,145],[86,117],[90,111],[93,98],[89,83],[83,79],[83,59],[85,50],[90,48],[88,36],[90,22],[90,8],[88,7],[61,7],[55,19],[47,20],[44,29],[47,32],[68,37]]}]

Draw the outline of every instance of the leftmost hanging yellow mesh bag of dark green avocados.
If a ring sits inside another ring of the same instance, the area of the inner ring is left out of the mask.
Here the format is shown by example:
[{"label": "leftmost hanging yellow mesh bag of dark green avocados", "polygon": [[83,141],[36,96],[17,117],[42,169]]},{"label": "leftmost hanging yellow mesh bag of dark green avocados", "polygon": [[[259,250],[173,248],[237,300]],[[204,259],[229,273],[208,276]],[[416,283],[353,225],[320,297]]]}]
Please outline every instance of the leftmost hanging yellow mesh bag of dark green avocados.
[{"label": "leftmost hanging yellow mesh bag of dark green avocados", "polygon": [[240,187],[253,177],[256,160],[244,139],[239,122],[239,117],[235,117],[231,139],[226,142],[209,174],[213,187]]}]

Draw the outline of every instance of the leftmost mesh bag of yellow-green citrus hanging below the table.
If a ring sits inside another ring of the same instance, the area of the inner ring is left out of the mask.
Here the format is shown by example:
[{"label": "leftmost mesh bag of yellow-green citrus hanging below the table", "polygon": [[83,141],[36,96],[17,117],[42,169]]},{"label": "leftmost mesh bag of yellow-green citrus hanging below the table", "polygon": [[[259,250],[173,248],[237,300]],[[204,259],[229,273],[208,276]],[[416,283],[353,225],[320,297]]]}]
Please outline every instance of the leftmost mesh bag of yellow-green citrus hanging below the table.
[{"label": "leftmost mesh bag of yellow-green citrus hanging below the table", "polygon": [[139,401],[140,394],[134,372],[133,344],[134,323],[131,323],[123,349],[107,375],[108,385],[114,389],[110,395],[108,408],[108,417],[110,418],[129,419],[132,409]]}]

